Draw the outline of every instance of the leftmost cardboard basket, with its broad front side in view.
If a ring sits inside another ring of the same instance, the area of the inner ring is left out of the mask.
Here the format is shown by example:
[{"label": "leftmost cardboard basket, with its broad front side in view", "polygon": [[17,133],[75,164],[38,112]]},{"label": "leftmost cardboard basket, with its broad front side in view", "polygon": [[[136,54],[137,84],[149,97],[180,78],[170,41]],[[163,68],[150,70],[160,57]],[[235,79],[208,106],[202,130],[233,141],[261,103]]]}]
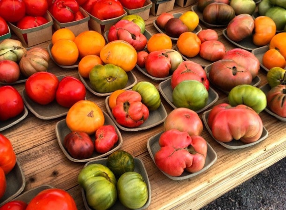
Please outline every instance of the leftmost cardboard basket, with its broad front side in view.
[{"label": "leftmost cardboard basket, with its broad front side in view", "polygon": [[[16,34],[16,36],[19,37],[22,43],[30,47],[51,40],[53,25],[52,17],[48,12],[46,12],[43,17],[45,17],[48,22],[37,27],[20,29],[10,22],[8,22],[8,26]],[[26,36],[26,40],[24,36]]]}]

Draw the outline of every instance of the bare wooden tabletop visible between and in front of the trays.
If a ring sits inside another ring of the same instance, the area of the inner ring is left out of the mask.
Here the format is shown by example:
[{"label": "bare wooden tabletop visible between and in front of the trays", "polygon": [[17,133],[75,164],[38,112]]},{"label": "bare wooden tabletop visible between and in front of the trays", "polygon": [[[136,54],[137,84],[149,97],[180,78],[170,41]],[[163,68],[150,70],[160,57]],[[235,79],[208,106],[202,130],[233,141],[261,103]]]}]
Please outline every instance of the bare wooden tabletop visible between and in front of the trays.
[{"label": "bare wooden tabletop visible between and in front of the trays", "polygon": [[[191,10],[191,6],[182,8],[175,4],[171,13]],[[146,29],[152,34],[158,31],[153,26],[156,17],[150,14],[146,21]],[[203,23],[200,23],[206,28]],[[222,29],[216,29],[219,40],[227,50],[235,48],[223,35]],[[39,46],[47,47],[49,42]],[[71,75],[78,78],[77,70],[64,70],[51,65],[55,75]],[[139,81],[149,81],[158,87],[159,83],[150,80],[138,70],[133,73]],[[262,82],[258,86],[266,84],[267,72],[263,69],[259,72]],[[24,84],[14,86],[21,91]],[[219,93],[216,104],[228,102],[227,95],[214,88]],[[86,98],[94,101],[103,111],[106,111],[105,97],[97,97],[87,91]],[[162,97],[161,97],[162,98]],[[169,113],[173,108],[162,98]],[[202,117],[202,113],[199,114]],[[134,157],[141,158],[147,169],[151,183],[151,204],[148,210],[197,210],[229,190],[247,181],[262,170],[286,156],[286,123],[278,120],[266,111],[260,116],[269,136],[264,141],[249,148],[230,150],[217,143],[204,127],[202,136],[209,142],[217,153],[217,161],[204,173],[184,181],[173,181],[162,174],[153,163],[148,151],[147,140],[163,130],[163,124],[148,130],[138,132],[122,131],[123,145],[121,149],[128,151]],[[79,171],[85,163],[70,161],[61,151],[55,135],[55,124],[64,117],[42,120],[30,111],[27,117],[18,124],[2,131],[1,133],[10,139],[17,161],[20,163],[26,185],[24,191],[41,185],[50,185],[69,192],[74,198],[78,210],[84,210],[81,190],[77,183]]]}]

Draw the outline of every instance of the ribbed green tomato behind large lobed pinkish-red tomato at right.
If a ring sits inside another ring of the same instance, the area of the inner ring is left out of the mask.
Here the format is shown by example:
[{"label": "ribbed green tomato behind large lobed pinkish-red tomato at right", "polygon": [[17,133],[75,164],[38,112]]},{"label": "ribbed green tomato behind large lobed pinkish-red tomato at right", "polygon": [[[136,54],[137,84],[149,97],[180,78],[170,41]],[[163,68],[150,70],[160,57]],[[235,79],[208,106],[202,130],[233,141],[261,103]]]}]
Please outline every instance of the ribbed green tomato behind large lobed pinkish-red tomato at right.
[{"label": "ribbed green tomato behind large lobed pinkish-red tomato at right", "polygon": [[228,96],[230,105],[247,105],[257,113],[263,111],[267,106],[265,93],[252,85],[238,85],[234,87]]}]

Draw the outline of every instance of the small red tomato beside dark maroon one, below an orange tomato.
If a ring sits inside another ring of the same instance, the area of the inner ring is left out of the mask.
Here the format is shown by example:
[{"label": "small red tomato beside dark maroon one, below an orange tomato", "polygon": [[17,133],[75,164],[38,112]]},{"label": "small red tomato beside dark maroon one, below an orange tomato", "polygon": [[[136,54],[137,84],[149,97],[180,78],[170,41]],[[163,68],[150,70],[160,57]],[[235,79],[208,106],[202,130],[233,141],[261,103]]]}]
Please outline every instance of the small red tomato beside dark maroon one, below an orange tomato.
[{"label": "small red tomato beside dark maroon one, below an orange tomato", "polygon": [[113,125],[102,125],[95,132],[94,147],[99,153],[106,153],[117,143],[118,135]]}]

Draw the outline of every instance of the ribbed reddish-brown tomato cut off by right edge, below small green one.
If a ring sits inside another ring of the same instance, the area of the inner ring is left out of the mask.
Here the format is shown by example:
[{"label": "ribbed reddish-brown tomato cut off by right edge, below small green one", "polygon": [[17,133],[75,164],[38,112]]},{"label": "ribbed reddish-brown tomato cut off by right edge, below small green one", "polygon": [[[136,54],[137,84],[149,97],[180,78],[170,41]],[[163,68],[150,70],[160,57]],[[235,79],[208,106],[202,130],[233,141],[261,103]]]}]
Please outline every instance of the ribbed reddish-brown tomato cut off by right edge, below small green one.
[{"label": "ribbed reddish-brown tomato cut off by right edge, below small green one", "polygon": [[267,105],[274,113],[286,117],[286,85],[277,85],[267,93]]}]

